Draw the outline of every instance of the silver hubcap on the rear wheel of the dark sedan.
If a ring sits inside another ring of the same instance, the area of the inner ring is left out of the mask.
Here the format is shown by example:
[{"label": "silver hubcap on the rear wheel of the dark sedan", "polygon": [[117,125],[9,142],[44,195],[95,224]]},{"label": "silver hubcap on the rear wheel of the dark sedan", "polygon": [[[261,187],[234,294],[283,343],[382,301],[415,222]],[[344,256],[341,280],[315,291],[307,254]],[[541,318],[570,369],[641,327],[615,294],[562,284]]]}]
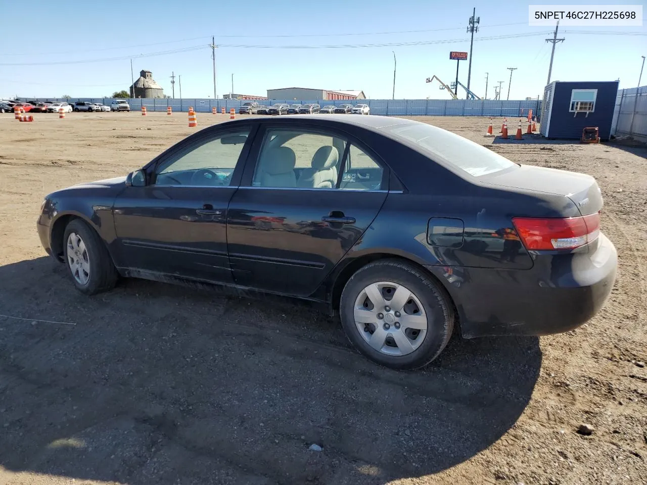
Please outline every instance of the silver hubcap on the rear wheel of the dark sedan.
[{"label": "silver hubcap on the rear wheel of the dark sedan", "polygon": [[353,313],[362,338],[382,354],[410,354],[427,334],[422,303],[398,283],[378,281],[366,286],[355,300]]}]

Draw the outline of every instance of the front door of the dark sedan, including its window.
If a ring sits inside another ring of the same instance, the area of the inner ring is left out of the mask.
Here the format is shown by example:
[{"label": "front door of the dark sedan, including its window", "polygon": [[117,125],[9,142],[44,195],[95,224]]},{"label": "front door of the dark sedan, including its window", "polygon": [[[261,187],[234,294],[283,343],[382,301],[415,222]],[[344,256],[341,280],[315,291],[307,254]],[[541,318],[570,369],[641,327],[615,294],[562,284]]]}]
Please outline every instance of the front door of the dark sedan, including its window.
[{"label": "front door of the dark sedan, including its window", "polygon": [[146,167],[146,185],[128,186],[113,208],[118,266],[231,283],[226,220],[255,125],[207,130]]}]

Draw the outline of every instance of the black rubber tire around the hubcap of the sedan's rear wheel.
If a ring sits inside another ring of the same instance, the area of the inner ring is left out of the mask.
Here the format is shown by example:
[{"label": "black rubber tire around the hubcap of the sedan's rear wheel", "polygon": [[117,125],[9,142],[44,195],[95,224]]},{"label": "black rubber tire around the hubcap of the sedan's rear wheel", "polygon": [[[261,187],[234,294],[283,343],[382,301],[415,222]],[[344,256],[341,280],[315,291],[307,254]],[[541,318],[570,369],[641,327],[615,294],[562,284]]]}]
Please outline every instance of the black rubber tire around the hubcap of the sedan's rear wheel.
[{"label": "black rubber tire around the hubcap of the sedan's rear wheel", "polygon": [[[428,328],[422,343],[410,354],[396,356],[373,349],[355,325],[353,310],[356,298],[364,288],[378,281],[406,286],[424,308]],[[454,330],[454,310],[446,290],[424,270],[398,259],[369,263],[351,276],[342,292],[340,318],[346,336],[355,348],[370,360],[391,369],[417,369],[430,363],[443,351]]]}]

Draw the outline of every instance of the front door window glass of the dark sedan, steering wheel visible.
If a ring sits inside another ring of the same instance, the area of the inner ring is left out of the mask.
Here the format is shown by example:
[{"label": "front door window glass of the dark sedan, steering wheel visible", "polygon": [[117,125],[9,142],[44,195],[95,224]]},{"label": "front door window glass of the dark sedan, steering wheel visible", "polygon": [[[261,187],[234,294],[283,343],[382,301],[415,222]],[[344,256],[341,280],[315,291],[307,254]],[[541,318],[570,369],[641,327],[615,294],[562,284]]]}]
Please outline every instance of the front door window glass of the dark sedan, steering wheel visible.
[{"label": "front door window glass of the dark sedan, steering wheel visible", "polygon": [[158,186],[228,186],[249,130],[201,140],[162,162],[156,170]]}]

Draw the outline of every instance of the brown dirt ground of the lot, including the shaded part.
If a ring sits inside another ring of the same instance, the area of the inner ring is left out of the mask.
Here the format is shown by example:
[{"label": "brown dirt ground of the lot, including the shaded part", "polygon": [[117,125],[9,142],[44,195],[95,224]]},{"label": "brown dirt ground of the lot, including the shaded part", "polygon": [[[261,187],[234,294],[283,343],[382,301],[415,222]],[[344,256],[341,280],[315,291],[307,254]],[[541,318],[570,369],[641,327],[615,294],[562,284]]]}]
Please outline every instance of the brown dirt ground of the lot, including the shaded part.
[{"label": "brown dirt ground of the lot, including the shaded part", "polygon": [[426,369],[395,372],[301,303],[138,280],[76,292],[39,243],[43,196],[124,175],[195,129],[186,113],[34,118],[0,117],[0,484],[647,483],[644,147],[417,118],[597,178],[619,273],[577,330],[454,338]]}]

